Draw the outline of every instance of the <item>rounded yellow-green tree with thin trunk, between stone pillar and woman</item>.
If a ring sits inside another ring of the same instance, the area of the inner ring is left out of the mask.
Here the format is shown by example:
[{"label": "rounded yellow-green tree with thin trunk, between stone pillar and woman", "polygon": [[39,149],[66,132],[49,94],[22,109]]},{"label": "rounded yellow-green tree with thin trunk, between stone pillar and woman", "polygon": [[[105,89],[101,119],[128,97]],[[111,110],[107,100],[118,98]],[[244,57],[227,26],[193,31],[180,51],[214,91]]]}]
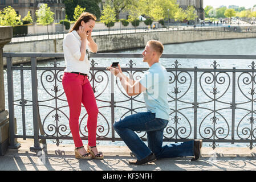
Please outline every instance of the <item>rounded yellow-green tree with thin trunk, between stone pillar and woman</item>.
[{"label": "rounded yellow-green tree with thin trunk, between stone pillar and woman", "polygon": [[54,13],[51,11],[50,7],[48,7],[46,3],[43,3],[42,5],[40,5],[39,10],[35,11],[35,14],[37,17],[36,22],[44,26],[47,26],[47,33],[48,33],[49,32],[48,24],[51,24],[52,22],[54,22]]}]

